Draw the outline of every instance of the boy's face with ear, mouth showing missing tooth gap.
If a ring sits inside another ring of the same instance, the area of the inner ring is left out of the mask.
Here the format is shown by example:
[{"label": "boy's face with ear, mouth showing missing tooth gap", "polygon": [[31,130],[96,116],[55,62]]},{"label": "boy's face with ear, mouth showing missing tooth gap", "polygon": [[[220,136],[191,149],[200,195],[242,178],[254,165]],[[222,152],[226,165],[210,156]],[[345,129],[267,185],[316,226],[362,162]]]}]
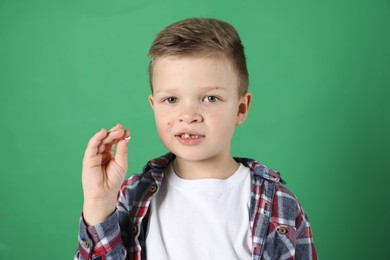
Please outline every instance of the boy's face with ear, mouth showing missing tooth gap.
[{"label": "boy's face with ear, mouth showing missing tooth gap", "polygon": [[226,59],[159,58],[152,84],[158,135],[179,160],[231,156],[233,132],[245,121],[251,95],[239,96],[236,72]]}]

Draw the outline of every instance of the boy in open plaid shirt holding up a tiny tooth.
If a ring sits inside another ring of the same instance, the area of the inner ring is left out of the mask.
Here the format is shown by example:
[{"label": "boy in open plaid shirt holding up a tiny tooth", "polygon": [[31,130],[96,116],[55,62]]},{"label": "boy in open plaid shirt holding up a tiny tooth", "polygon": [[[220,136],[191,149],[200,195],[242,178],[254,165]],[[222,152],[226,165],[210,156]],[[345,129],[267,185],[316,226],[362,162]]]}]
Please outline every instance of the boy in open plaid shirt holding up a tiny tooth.
[{"label": "boy in open plaid shirt holding up a tiny tooth", "polygon": [[230,154],[252,99],[236,30],[186,19],[160,32],[149,55],[149,102],[170,152],[123,182],[130,132],[118,124],[91,138],[75,259],[317,259],[278,172]]}]

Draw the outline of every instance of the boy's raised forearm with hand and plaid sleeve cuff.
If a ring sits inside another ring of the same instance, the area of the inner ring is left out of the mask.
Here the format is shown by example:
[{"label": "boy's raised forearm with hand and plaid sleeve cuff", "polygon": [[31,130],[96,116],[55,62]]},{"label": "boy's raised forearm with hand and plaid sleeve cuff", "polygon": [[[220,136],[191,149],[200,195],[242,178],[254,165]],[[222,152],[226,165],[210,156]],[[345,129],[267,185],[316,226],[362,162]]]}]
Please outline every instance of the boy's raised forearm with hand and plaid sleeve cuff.
[{"label": "boy's raised forearm with hand and plaid sleeve cuff", "polygon": [[[121,124],[102,129],[88,143],[83,159],[83,214],[75,259],[124,259],[117,197],[127,171],[130,132]],[[114,146],[117,145],[114,157]]]}]

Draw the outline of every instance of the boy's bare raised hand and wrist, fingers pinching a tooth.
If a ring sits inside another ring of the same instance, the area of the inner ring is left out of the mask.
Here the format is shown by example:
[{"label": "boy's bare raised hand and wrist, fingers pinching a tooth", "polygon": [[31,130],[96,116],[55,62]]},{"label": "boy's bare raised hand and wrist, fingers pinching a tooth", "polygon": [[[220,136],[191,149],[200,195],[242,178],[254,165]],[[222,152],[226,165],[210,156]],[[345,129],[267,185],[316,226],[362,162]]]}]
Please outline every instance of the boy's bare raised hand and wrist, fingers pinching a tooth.
[{"label": "boy's bare raised hand and wrist, fingers pinching a tooth", "polygon": [[129,136],[130,131],[117,124],[110,131],[100,130],[89,140],[82,170],[83,215],[88,225],[104,221],[115,211],[127,172]]}]

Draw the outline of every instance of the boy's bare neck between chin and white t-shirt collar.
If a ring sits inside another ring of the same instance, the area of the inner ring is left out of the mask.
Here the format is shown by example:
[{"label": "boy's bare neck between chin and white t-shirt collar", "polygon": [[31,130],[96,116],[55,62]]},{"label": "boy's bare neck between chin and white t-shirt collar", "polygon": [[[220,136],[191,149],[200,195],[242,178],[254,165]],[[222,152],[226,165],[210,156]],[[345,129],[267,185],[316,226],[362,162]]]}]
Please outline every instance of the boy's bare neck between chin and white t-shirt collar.
[{"label": "boy's bare neck between chin and white t-shirt collar", "polygon": [[173,161],[175,173],[182,179],[227,179],[238,169],[239,164],[233,157],[209,158],[202,161],[188,161],[176,157]]}]

